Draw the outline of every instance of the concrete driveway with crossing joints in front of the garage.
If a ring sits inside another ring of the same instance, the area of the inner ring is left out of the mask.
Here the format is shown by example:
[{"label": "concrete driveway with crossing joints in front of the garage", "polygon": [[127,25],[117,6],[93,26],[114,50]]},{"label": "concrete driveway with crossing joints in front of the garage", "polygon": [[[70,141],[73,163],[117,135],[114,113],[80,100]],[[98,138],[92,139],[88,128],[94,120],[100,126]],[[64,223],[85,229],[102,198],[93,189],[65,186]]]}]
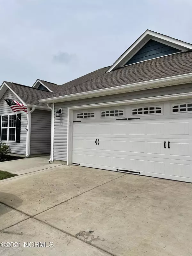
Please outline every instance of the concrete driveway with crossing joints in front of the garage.
[{"label": "concrete driveway with crossing joints in front of the garage", "polygon": [[0,183],[0,242],[20,242],[0,255],[192,255],[191,198],[190,183],[85,167],[20,175]]}]

